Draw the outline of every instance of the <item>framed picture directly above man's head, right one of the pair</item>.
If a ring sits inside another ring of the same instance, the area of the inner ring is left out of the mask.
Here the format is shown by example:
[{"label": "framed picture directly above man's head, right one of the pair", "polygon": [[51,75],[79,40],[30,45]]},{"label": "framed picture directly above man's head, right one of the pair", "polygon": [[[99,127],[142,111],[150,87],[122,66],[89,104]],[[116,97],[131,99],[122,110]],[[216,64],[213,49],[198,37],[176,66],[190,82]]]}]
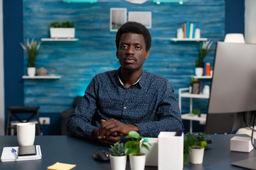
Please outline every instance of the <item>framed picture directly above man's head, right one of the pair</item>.
[{"label": "framed picture directly above man's head, right one of the pair", "polygon": [[152,27],[152,16],[151,12],[145,11],[131,11],[128,12],[128,21],[135,21],[143,24],[146,28]]}]

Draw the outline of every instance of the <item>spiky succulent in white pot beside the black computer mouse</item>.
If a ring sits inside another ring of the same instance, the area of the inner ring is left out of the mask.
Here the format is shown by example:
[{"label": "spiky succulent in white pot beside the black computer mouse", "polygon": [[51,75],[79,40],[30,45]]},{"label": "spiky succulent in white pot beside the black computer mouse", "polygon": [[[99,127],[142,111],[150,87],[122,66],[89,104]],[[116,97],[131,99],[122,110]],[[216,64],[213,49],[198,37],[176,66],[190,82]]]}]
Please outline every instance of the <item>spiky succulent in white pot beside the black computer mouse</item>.
[{"label": "spiky succulent in white pot beside the black computer mouse", "polygon": [[124,155],[124,144],[117,142],[110,147],[111,170],[125,170],[127,156]]}]

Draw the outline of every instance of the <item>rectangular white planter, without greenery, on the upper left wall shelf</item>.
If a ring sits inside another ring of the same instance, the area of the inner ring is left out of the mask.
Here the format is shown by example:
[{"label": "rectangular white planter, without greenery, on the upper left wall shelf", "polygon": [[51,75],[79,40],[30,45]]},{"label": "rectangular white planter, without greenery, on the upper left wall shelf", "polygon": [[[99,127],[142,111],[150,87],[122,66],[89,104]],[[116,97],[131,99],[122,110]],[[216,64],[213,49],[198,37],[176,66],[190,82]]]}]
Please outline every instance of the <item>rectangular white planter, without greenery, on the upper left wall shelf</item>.
[{"label": "rectangular white planter, without greenery, on the upper left wall shelf", "polygon": [[74,38],[75,28],[50,28],[51,38]]}]

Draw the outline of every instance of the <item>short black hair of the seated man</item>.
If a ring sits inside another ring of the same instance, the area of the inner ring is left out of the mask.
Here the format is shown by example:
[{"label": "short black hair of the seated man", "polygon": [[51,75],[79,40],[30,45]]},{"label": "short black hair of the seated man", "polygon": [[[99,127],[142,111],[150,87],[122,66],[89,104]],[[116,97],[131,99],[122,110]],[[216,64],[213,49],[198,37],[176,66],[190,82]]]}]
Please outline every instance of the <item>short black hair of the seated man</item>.
[{"label": "short black hair of the seated man", "polygon": [[141,23],[133,22],[133,21],[124,23],[117,31],[117,35],[116,35],[117,50],[119,47],[119,42],[121,40],[121,36],[124,33],[142,34],[144,37],[145,44],[146,44],[146,51],[149,51],[149,49],[151,47],[151,35],[150,35],[148,29],[146,28],[146,26],[144,26]]}]

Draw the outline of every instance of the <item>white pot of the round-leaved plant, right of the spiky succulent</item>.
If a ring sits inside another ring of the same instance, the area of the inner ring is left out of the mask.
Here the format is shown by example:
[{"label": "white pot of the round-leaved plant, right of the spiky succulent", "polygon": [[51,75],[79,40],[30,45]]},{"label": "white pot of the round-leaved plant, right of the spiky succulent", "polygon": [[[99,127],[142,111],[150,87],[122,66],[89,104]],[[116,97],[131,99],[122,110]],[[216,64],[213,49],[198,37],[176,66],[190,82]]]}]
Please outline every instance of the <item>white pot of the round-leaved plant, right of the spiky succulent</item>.
[{"label": "white pot of the round-leaved plant, right of the spiky succulent", "polygon": [[146,155],[129,155],[131,170],[144,170],[146,163]]}]

